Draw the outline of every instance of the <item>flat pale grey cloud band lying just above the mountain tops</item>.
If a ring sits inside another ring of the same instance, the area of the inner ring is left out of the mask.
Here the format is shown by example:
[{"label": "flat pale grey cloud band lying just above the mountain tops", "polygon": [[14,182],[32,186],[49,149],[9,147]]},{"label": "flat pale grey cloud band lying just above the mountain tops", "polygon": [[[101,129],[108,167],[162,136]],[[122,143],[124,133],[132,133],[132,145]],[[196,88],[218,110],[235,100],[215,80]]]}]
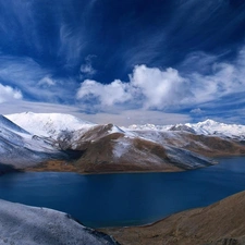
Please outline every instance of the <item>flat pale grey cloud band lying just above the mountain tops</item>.
[{"label": "flat pale grey cloud band lying just above the mountain tops", "polygon": [[128,126],[132,124],[147,124],[152,123],[156,125],[176,124],[191,122],[192,119],[182,113],[163,113],[160,111],[146,111],[146,110],[126,110],[98,112],[96,114],[88,114],[81,111],[79,107],[53,105],[45,102],[28,102],[24,100],[13,100],[3,102],[0,107],[0,114],[12,114],[32,111],[36,113],[64,113],[73,114],[82,120],[86,120],[97,124],[114,123],[119,126]]}]

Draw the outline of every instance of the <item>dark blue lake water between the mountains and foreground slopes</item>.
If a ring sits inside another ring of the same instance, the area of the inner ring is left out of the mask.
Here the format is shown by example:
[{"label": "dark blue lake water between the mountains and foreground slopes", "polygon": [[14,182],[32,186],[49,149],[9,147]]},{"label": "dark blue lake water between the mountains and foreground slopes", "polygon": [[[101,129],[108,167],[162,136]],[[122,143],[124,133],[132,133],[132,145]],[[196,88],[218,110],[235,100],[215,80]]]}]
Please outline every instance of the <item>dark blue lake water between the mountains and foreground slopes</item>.
[{"label": "dark blue lake water between the mountains and foreground slopes", "polygon": [[71,213],[89,226],[144,224],[245,189],[245,158],[180,173],[11,173],[0,198]]}]

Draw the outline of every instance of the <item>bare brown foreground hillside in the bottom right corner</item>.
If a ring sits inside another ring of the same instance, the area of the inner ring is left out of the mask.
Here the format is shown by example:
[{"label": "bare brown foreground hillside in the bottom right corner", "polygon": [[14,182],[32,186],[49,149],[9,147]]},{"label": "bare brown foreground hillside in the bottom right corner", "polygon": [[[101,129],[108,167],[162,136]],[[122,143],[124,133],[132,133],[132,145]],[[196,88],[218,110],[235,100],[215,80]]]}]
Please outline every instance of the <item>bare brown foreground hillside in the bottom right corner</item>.
[{"label": "bare brown foreground hillside in the bottom right corner", "polygon": [[103,229],[123,245],[244,245],[245,192],[147,226]]}]

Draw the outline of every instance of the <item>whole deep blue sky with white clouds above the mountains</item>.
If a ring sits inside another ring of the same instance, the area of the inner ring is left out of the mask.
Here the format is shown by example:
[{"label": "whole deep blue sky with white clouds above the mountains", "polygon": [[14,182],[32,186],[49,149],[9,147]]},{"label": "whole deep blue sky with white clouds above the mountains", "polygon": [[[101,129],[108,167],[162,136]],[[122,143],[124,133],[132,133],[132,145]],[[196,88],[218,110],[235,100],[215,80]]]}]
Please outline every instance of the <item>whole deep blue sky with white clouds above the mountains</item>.
[{"label": "whole deep blue sky with white clouds above the mountains", "polygon": [[0,0],[0,113],[245,124],[244,0]]}]

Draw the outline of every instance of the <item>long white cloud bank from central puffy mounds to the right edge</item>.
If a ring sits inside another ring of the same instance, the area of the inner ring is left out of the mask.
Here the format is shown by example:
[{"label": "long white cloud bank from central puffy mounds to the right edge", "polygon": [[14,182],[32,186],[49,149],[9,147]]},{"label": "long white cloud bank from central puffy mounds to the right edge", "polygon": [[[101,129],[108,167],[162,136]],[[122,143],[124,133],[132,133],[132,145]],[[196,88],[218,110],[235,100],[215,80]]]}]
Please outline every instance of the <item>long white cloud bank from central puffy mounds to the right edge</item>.
[{"label": "long white cloud bank from central puffy mounds to the right edge", "polygon": [[[197,57],[203,61],[195,63]],[[189,56],[185,65],[194,68],[206,64],[207,70],[199,69],[180,73],[168,68],[148,68],[136,65],[128,75],[128,82],[120,79],[102,85],[86,79],[81,84],[76,98],[81,101],[90,98],[90,102],[100,109],[110,106],[124,106],[124,109],[177,110],[198,108],[207,102],[224,101],[228,97],[245,91],[245,48],[241,49],[234,62],[219,62],[218,57],[208,54]],[[184,66],[185,66],[184,65]],[[184,68],[182,66],[182,68]],[[192,110],[192,109],[191,109]]]}]

